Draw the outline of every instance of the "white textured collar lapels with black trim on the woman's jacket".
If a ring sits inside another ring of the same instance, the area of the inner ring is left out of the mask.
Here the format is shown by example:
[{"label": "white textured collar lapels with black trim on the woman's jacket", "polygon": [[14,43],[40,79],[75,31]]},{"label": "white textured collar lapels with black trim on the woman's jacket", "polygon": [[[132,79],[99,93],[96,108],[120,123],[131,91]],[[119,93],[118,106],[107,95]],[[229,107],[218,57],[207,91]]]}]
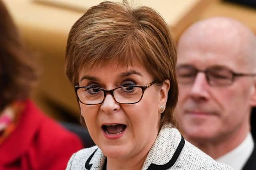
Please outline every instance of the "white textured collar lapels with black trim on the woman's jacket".
[{"label": "white textured collar lapels with black trim on the woman's jacket", "polygon": [[[164,125],[144,162],[142,170],[169,169],[177,160],[185,141],[180,132]],[[106,156],[98,148],[86,160],[86,170],[102,170]]]}]

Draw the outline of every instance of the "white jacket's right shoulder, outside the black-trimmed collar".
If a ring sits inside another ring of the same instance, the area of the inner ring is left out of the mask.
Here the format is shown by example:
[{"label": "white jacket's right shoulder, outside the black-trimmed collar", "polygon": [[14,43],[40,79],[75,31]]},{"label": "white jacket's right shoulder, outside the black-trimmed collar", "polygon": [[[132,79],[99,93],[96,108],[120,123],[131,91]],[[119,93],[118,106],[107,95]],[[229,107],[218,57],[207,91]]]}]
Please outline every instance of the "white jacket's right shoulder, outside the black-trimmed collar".
[{"label": "white jacket's right shoulder, outside the black-trimmed collar", "polygon": [[188,141],[185,142],[184,148],[172,168],[175,170],[234,170],[226,164],[216,162]]}]

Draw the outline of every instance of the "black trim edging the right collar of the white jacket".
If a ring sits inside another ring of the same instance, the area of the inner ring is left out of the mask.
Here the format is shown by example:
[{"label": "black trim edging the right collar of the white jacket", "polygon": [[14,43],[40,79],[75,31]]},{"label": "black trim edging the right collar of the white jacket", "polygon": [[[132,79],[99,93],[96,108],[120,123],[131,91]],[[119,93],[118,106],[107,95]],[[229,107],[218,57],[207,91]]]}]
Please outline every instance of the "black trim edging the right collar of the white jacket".
[{"label": "black trim edging the right collar of the white jacket", "polygon": [[185,145],[185,140],[184,140],[183,136],[181,136],[180,143],[179,143],[177,149],[175,150],[171,160],[163,165],[150,164],[150,166],[148,167],[147,170],[167,170],[170,167],[172,167],[174,165],[174,163],[176,162],[176,160],[178,159],[180,152],[182,151],[184,145]]}]

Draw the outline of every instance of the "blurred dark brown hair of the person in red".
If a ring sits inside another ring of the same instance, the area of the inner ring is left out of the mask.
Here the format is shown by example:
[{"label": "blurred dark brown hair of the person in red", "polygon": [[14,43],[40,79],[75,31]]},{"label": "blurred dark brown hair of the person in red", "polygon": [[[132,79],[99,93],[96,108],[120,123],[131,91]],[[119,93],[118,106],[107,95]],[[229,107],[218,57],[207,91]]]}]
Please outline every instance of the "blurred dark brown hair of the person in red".
[{"label": "blurred dark brown hair of the person in red", "polygon": [[34,63],[23,48],[10,14],[0,0],[0,110],[28,97],[37,80]]}]

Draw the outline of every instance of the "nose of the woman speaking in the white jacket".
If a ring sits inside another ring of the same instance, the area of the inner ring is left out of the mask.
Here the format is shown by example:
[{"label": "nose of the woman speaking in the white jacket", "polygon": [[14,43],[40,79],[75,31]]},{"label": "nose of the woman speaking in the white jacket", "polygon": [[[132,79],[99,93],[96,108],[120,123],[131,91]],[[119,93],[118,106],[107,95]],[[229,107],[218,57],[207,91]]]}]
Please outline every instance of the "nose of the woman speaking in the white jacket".
[{"label": "nose of the woman speaking in the white jacket", "polygon": [[120,109],[120,104],[116,102],[111,94],[107,94],[100,109],[106,113],[111,113],[112,111]]}]

